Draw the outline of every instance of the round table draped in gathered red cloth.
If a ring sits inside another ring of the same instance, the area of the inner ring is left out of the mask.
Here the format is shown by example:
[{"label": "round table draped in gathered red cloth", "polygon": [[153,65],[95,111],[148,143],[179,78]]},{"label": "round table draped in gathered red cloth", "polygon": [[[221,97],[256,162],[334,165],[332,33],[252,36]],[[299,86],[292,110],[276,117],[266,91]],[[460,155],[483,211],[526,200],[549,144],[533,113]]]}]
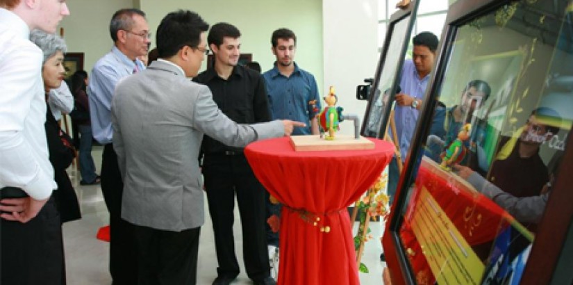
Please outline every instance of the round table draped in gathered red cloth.
[{"label": "round table draped in gathered red cloth", "polygon": [[253,142],[244,153],[283,203],[278,284],[360,284],[347,206],[378,179],[394,147],[295,152],[290,138]]}]

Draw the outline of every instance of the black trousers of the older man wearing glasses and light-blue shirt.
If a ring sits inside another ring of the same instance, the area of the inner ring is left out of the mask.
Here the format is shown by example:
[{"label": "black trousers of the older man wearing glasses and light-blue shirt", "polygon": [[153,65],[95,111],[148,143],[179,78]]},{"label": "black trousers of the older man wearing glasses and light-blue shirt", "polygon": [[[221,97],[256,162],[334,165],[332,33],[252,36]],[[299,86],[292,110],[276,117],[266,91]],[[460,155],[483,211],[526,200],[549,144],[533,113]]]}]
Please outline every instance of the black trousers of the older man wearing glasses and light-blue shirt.
[{"label": "black trousers of the older man wearing glasses and light-blue shirt", "polygon": [[110,212],[110,274],[113,285],[138,284],[138,254],[134,226],[122,219],[124,184],[112,144],[103,147],[101,192]]}]

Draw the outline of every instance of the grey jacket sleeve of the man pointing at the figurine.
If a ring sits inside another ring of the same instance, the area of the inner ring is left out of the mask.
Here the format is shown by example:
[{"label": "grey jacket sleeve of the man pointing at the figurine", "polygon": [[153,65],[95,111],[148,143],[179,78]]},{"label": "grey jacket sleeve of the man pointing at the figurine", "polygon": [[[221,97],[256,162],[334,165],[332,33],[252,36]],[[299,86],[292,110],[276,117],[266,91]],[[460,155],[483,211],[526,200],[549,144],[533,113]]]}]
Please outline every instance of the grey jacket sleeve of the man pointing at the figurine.
[{"label": "grey jacket sleeve of the man pointing at the figurine", "polygon": [[199,88],[201,90],[192,106],[194,113],[192,124],[211,138],[225,145],[244,147],[254,140],[284,136],[284,126],[280,120],[250,125],[233,122],[219,110],[209,88],[201,85]]}]

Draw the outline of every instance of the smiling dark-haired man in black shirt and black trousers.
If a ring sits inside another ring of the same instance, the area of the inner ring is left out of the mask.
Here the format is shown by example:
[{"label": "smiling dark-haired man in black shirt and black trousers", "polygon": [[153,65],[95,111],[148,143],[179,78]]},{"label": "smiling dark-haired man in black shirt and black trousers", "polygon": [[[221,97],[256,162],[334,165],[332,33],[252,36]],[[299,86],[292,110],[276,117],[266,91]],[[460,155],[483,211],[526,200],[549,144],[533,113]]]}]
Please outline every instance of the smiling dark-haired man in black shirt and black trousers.
[{"label": "smiling dark-haired man in black shirt and black trousers", "polygon": [[[265,81],[260,74],[238,65],[240,31],[231,24],[213,25],[207,38],[215,64],[193,81],[208,86],[221,111],[231,120],[251,124],[271,120]],[[230,284],[239,275],[233,238],[235,193],[243,234],[244,266],[255,284],[276,284],[270,277],[265,234],[265,188],[256,179],[243,149],[223,145],[205,136],[203,174],[209,213],[215,234],[217,279]]]}]

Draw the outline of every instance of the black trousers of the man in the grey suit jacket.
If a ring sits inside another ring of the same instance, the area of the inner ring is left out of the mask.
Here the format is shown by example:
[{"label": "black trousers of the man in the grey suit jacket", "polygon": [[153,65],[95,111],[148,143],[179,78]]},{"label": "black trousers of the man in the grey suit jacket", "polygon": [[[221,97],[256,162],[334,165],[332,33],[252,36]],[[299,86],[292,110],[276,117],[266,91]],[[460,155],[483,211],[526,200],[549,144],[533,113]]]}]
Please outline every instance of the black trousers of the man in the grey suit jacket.
[{"label": "black trousers of the man in the grey suit jacket", "polygon": [[197,283],[201,227],[163,231],[135,225],[139,253],[139,285]]}]

